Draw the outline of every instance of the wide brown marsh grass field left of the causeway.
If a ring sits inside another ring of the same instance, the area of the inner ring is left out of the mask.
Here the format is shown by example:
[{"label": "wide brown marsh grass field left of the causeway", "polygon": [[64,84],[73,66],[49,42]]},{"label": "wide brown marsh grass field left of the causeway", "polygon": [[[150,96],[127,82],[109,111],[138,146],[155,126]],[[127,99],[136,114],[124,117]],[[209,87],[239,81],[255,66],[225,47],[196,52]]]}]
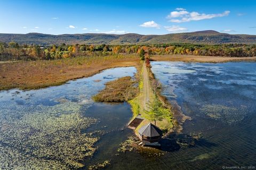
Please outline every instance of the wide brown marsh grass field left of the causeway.
[{"label": "wide brown marsh grass field left of the causeway", "polygon": [[135,66],[138,61],[139,57],[136,55],[119,55],[0,63],[0,90],[57,86],[112,67]]}]

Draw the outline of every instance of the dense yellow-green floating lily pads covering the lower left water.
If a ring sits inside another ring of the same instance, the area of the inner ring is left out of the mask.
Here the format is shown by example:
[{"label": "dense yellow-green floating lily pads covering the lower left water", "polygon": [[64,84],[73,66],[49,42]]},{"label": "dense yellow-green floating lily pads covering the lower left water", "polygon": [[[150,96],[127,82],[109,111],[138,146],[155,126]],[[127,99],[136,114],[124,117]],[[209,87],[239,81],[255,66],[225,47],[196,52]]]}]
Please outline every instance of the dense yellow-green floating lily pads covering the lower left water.
[{"label": "dense yellow-green floating lily pads covering the lower left water", "polygon": [[[74,102],[54,106],[4,105],[0,111],[0,168],[79,168],[99,140],[82,133],[97,120],[83,117]],[[13,111],[19,111],[13,112]]]}]

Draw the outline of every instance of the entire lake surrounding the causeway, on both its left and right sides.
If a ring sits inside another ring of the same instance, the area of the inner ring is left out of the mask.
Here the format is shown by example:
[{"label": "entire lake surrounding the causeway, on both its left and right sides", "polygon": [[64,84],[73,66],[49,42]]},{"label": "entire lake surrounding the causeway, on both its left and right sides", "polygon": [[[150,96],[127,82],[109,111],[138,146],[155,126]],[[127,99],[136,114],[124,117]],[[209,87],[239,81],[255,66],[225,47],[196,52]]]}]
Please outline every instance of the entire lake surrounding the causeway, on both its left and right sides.
[{"label": "entire lake surrounding the causeway, on both its left and right sides", "polygon": [[86,169],[104,160],[111,163],[106,169],[255,167],[256,63],[151,65],[162,94],[191,119],[181,133],[167,137],[165,155],[117,152],[133,135],[123,129],[132,117],[130,106],[91,99],[106,82],[136,72],[124,67],[56,87],[1,91],[0,169],[68,169],[79,163]]}]

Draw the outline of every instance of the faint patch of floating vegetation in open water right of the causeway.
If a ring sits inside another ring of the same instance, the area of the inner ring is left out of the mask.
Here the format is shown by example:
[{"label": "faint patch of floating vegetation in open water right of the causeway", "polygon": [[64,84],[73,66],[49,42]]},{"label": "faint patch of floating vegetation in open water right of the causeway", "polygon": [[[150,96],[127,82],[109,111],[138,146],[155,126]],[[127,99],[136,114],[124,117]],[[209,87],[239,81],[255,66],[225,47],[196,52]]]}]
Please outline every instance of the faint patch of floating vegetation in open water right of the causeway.
[{"label": "faint patch of floating vegetation in open water right of the causeway", "polygon": [[220,119],[228,124],[242,121],[248,112],[247,107],[223,105],[205,105],[200,108],[200,111],[211,118]]}]

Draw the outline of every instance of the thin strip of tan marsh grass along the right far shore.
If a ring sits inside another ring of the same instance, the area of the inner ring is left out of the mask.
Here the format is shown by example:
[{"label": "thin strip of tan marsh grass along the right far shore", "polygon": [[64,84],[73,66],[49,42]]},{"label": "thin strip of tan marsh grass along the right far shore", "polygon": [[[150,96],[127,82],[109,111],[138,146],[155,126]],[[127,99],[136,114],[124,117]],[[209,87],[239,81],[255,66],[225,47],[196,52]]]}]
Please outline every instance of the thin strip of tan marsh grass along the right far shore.
[{"label": "thin strip of tan marsh grass along the right far shore", "polygon": [[152,61],[182,61],[201,63],[221,63],[230,61],[256,61],[256,57],[213,57],[195,55],[155,55],[150,57]]}]

